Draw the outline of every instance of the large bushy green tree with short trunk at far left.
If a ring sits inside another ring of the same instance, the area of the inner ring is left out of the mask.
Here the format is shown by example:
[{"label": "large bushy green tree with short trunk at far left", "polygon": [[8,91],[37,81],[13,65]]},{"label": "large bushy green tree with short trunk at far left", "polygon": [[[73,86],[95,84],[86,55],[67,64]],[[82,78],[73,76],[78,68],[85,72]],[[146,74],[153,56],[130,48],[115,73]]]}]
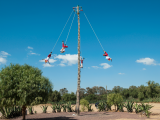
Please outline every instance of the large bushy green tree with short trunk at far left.
[{"label": "large bushy green tree with short trunk at far left", "polygon": [[0,105],[22,106],[23,120],[26,106],[47,102],[51,91],[52,84],[38,68],[10,64],[0,71]]}]

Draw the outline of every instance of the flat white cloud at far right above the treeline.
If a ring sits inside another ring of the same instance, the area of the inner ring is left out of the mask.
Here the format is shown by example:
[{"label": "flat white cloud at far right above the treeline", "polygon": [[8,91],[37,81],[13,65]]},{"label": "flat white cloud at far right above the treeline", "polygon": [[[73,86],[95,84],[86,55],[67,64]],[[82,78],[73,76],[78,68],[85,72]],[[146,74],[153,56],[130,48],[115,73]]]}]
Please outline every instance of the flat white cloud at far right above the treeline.
[{"label": "flat white cloud at far right above the treeline", "polygon": [[137,63],[143,63],[145,65],[156,65],[155,60],[151,58],[141,58],[136,60]]}]

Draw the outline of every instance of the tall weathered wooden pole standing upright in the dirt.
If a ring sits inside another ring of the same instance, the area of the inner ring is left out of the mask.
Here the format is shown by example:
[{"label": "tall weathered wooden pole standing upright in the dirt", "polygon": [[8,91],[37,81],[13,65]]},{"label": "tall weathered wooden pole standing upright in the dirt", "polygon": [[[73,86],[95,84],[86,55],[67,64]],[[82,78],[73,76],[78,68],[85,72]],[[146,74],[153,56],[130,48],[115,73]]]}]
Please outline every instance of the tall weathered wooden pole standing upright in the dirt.
[{"label": "tall weathered wooden pole standing upright in the dirt", "polygon": [[80,21],[79,21],[79,6],[77,6],[78,15],[78,85],[77,85],[77,102],[76,102],[76,113],[79,115],[79,92],[80,92]]}]

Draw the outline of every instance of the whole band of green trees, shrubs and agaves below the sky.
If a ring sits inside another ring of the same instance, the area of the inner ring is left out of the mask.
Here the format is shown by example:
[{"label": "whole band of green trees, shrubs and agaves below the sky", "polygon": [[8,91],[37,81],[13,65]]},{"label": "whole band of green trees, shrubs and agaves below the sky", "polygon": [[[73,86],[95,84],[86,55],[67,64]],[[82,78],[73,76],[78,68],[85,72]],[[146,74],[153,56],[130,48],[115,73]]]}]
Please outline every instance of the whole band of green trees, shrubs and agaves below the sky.
[{"label": "whole band of green trees, shrubs and agaves below the sky", "polygon": [[[52,112],[61,112],[62,108],[63,112],[73,112],[75,93],[69,93],[67,88],[53,90],[53,85],[42,76],[41,70],[26,64],[10,64],[0,71],[0,112],[4,118],[23,115],[25,119],[26,108],[29,114],[34,114],[34,105],[46,103],[51,105]],[[149,117],[153,106],[144,103],[160,102],[160,85],[149,80],[146,86],[115,86],[112,90],[102,86],[80,89],[81,111],[93,111],[91,104],[96,102],[99,102],[99,111],[110,111],[114,105],[115,111],[123,112],[125,107],[128,112],[135,110]],[[43,113],[47,112],[47,108],[47,105],[41,106]]]}]

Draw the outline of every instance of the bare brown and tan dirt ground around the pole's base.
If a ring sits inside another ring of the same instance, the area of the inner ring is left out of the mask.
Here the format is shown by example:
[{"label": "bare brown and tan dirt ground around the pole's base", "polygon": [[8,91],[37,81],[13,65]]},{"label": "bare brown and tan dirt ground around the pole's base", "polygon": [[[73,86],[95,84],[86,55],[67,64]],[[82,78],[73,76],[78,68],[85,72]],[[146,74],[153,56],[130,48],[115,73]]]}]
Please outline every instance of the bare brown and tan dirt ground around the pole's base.
[{"label": "bare brown and tan dirt ground around the pole's base", "polygon": [[[61,113],[52,113],[51,104],[46,104],[48,106],[47,113],[42,113],[42,109],[40,106],[44,104],[40,104],[37,106],[34,106],[33,111],[37,111],[37,114],[29,115],[28,109],[27,109],[27,115],[26,119],[38,119],[38,120],[135,120],[135,119],[141,119],[141,120],[160,120],[160,103],[150,103],[150,105],[154,106],[150,111],[152,113],[155,113],[156,115],[151,115],[150,118],[147,118],[145,116],[128,113],[127,109],[124,108],[125,112],[98,112],[98,109],[95,107],[94,104],[92,104],[93,112],[80,112],[80,116],[75,115],[75,112],[62,112]],[[75,109],[75,105],[72,105],[72,109]],[[80,106],[81,109],[81,106]],[[115,109],[114,106],[112,106],[112,110]],[[159,114],[159,115],[157,115]],[[0,113],[1,116],[1,113]],[[15,118],[13,120],[21,120],[21,117]],[[1,119],[2,120],[2,119]]]}]

